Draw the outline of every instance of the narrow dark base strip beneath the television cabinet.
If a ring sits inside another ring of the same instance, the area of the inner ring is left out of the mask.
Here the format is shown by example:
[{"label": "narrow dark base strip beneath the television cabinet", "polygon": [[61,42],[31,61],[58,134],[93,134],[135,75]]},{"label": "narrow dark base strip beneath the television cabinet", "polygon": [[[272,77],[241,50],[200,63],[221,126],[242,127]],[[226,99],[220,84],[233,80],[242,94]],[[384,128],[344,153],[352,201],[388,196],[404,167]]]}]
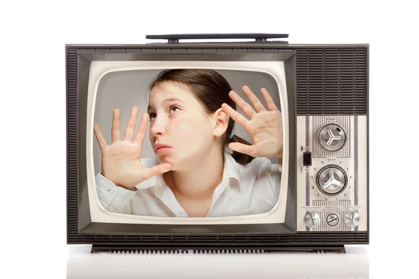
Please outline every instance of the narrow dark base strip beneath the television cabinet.
[{"label": "narrow dark base strip beneath the television cabinet", "polygon": [[311,253],[346,253],[344,245],[307,245],[307,246],[136,246],[136,245],[91,245],[91,253],[98,252],[131,252],[140,251],[146,253],[200,254],[207,251],[209,254],[233,254],[233,253],[270,253],[270,252],[311,252]]}]

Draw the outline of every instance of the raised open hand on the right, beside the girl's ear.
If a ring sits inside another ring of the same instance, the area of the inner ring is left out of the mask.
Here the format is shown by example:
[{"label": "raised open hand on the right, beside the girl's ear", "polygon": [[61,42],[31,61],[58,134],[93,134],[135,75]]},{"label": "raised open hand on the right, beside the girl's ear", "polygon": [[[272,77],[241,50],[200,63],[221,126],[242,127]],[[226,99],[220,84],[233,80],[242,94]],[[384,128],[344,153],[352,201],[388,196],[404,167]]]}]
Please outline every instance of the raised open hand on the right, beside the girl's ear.
[{"label": "raised open hand on the right, beside the girl's ear", "polygon": [[[231,150],[251,155],[252,157],[282,157],[282,117],[281,112],[275,106],[269,92],[265,88],[260,89],[265,99],[267,109],[260,103],[247,85],[242,87],[242,91],[251,101],[253,109],[233,90],[228,94],[231,99],[239,106],[249,117],[246,119],[240,113],[237,113],[228,104],[223,103],[221,108],[226,111],[230,117],[242,126],[251,136],[253,145],[244,145],[242,143],[230,143],[228,148]],[[256,110],[256,111],[255,111]]]}]

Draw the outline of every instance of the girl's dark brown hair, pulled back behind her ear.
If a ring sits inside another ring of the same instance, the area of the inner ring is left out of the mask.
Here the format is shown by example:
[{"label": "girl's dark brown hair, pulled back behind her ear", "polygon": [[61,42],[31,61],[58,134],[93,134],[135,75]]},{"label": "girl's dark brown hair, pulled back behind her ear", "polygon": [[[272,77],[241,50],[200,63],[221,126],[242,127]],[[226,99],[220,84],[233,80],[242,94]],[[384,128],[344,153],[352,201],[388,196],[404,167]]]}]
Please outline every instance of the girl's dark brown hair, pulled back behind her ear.
[{"label": "girl's dark brown hair, pulled back behind her ear", "polygon": [[[186,85],[186,87],[196,96],[196,99],[203,105],[207,115],[215,113],[216,110],[221,108],[223,103],[227,103],[228,106],[236,109],[235,102],[228,96],[228,93],[232,90],[230,84],[227,82],[226,78],[214,70],[172,69],[161,71],[161,73],[154,78],[152,83],[150,83],[149,92],[154,86],[165,82]],[[233,138],[228,139],[231,131],[233,131],[234,125],[235,121],[230,117],[226,133],[224,134],[223,145],[234,142],[251,145],[251,143],[244,141],[240,136],[233,135]],[[232,156],[239,164],[247,164],[254,159],[254,157],[251,157],[250,155],[235,151],[233,151]]]}]

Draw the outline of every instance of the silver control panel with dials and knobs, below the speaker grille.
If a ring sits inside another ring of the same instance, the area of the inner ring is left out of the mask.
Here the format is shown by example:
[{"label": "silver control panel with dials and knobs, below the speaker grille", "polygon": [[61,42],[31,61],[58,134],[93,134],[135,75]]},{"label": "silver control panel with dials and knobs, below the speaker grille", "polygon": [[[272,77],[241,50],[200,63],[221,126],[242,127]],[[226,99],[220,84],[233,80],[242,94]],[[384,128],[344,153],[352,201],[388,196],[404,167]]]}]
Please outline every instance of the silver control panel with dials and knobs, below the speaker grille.
[{"label": "silver control panel with dials and knobs, below the speaker grille", "polygon": [[297,231],[367,231],[367,122],[297,116]]}]

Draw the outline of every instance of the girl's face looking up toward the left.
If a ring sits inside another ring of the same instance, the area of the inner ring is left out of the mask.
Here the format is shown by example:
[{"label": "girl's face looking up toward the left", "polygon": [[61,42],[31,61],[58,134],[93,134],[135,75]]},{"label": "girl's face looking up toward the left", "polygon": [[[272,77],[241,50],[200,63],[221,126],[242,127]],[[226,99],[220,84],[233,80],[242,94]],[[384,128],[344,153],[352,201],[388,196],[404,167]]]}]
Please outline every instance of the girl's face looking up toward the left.
[{"label": "girl's face looking up toward the left", "polygon": [[[173,171],[196,166],[214,145],[214,124],[205,117],[203,106],[182,85],[163,83],[150,92],[150,143],[161,163],[172,164]],[[169,145],[170,148],[159,148]]]}]

